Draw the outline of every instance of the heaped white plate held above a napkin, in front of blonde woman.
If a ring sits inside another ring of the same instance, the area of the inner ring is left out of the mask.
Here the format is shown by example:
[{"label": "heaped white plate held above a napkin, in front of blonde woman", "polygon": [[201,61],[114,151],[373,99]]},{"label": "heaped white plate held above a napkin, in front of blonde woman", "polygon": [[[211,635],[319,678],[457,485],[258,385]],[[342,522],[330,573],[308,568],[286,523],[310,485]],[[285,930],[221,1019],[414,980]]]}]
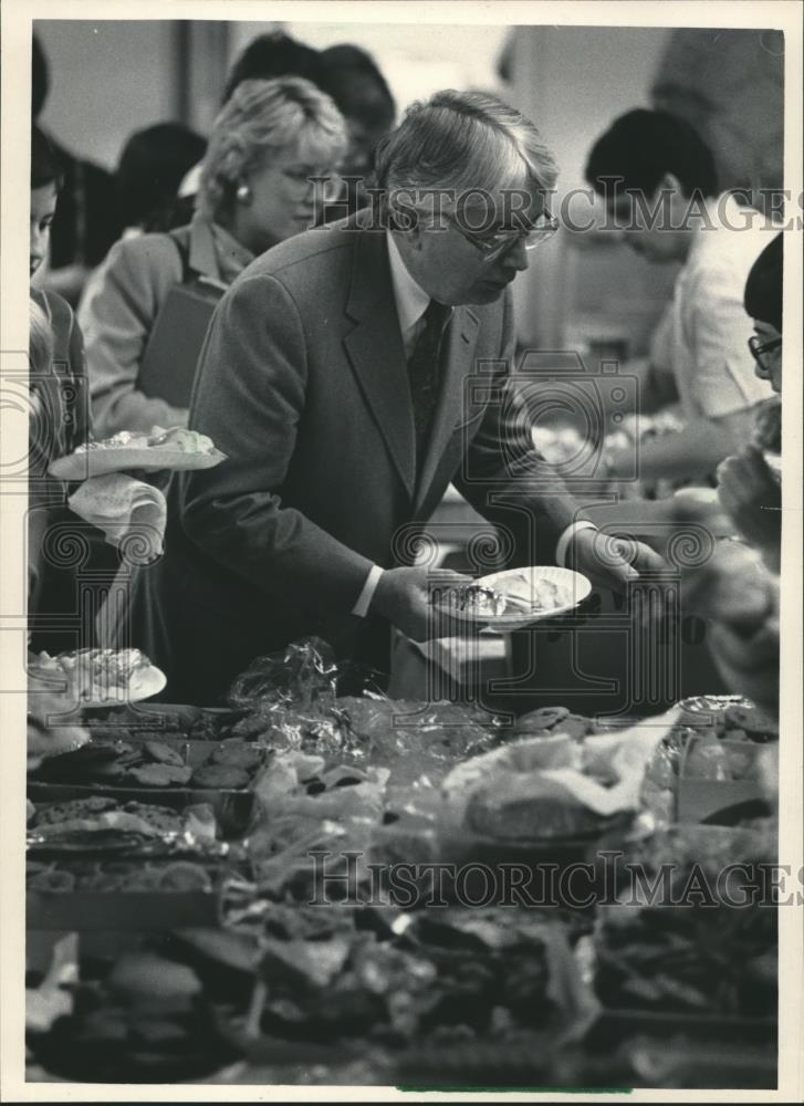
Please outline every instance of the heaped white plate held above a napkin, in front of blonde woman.
[{"label": "heaped white plate held above a napkin, in front of blonde woman", "polygon": [[49,471],[59,480],[87,480],[130,469],[211,469],[223,460],[226,453],[216,449],[206,434],[179,426],[169,430],[155,426],[150,434],[121,430],[103,441],[88,441],[66,457],[59,457]]}]

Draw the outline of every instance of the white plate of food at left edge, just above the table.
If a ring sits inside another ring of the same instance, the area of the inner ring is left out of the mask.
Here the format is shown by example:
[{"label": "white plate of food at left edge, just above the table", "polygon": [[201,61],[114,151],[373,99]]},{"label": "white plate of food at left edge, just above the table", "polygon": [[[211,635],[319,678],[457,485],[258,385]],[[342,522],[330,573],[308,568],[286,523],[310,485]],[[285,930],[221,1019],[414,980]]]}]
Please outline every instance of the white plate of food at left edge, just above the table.
[{"label": "white plate of food at left edge, just above the table", "polygon": [[63,687],[66,702],[88,710],[150,699],[167,685],[161,669],[139,649],[80,649],[56,657],[41,653],[29,675],[54,690]]}]

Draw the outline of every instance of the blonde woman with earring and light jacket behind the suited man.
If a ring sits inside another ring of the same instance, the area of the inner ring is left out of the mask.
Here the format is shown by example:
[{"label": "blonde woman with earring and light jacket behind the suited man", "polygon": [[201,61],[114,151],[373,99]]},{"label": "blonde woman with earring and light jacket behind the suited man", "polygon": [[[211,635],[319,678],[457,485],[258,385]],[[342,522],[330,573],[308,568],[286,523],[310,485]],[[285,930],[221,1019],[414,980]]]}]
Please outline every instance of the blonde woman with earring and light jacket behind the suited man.
[{"label": "blonde woman with earring and light jacket behind the suited man", "polygon": [[332,174],[346,143],[335,104],[309,81],[243,81],[236,88],[209,139],[192,221],[118,242],[80,313],[98,438],[186,426],[185,406],[138,387],[168,293],[199,279],[226,288],[258,254],[311,227],[314,178]]}]

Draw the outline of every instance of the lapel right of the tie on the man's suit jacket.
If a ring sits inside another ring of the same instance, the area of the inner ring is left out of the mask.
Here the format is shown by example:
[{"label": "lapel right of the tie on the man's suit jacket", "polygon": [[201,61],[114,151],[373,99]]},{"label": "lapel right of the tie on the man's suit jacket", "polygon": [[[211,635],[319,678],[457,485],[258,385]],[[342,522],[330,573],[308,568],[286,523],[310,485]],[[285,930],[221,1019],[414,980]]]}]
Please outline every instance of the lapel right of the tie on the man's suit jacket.
[{"label": "lapel right of the tie on the man's suit jacket", "polygon": [[416,488],[416,510],[430,489],[443,451],[456,427],[463,418],[463,382],[472,366],[478,341],[478,316],[468,307],[456,307],[447,333],[447,349],[442,357],[442,376],[432,429]]}]

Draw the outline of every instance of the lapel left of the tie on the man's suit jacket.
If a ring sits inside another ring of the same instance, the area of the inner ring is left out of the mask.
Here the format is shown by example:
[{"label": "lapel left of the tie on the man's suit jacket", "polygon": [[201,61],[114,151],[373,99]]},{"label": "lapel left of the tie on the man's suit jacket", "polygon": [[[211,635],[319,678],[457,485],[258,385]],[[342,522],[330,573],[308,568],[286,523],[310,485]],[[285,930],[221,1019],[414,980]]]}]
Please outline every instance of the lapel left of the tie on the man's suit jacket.
[{"label": "lapel left of the tie on the man's suit jacket", "polygon": [[356,325],[344,343],[394,466],[413,499],[416,431],[388,248],[385,233],[379,231],[358,231],[355,240],[355,264],[346,310]]}]

